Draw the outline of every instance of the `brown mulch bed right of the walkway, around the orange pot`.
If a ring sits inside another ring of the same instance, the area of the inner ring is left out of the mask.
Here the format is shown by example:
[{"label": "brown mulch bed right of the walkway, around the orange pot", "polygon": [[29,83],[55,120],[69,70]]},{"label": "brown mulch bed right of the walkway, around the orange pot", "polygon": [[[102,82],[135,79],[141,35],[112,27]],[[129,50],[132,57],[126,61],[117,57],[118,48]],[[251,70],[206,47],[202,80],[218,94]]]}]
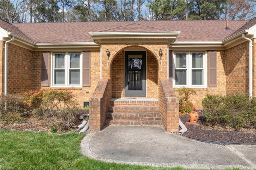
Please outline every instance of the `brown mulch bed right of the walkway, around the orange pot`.
[{"label": "brown mulch bed right of the walkway, around the orange pot", "polygon": [[242,130],[234,130],[223,127],[210,127],[206,123],[205,117],[201,111],[198,111],[199,119],[194,125],[186,125],[189,122],[189,115],[180,115],[180,120],[186,128],[187,132],[182,134],[189,138],[196,138],[198,140],[210,140],[218,142],[232,142],[232,143],[256,143],[256,132],[246,132]]}]

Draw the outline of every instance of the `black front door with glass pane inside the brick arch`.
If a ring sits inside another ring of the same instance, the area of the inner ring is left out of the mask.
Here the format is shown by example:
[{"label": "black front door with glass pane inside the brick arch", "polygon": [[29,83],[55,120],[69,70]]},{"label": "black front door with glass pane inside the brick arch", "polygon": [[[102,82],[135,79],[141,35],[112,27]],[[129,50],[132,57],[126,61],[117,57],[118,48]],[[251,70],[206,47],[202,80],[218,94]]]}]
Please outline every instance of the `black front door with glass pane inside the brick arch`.
[{"label": "black front door with glass pane inside the brick arch", "polygon": [[124,64],[124,95],[146,97],[146,51],[125,51]]}]

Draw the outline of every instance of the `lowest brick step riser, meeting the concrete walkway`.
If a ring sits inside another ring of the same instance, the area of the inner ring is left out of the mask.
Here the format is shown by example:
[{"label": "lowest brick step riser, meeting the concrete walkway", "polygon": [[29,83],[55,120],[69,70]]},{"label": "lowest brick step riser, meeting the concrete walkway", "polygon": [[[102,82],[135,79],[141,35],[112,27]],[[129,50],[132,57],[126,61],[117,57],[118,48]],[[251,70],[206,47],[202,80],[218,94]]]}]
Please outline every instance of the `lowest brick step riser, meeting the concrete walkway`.
[{"label": "lowest brick step riser, meeting the concrete walkway", "polygon": [[106,120],[106,125],[144,125],[144,126],[162,126],[162,121],[140,121],[140,120]]}]

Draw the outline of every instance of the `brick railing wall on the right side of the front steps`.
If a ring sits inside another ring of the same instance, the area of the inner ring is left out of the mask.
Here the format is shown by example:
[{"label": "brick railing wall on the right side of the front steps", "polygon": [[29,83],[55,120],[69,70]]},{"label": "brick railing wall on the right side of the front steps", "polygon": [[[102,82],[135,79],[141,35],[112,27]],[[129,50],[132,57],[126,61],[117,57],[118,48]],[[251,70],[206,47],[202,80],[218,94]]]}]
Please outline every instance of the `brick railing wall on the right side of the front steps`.
[{"label": "brick railing wall on the right side of the front steps", "polygon": [[168,79],[160,80],[158,95],[164,129],[179,132],[179,100]]}]

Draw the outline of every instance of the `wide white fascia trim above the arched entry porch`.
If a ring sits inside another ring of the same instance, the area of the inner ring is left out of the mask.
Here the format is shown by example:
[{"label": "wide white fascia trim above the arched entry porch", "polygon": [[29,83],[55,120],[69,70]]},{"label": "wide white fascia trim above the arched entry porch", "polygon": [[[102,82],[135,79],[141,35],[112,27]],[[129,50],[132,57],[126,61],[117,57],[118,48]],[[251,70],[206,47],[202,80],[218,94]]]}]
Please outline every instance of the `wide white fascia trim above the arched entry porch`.
[{"label": "wide white fascia trim above the arched entry porch", "polygon": [[180,32],[89,32],[94,39],[176,38]]}]

